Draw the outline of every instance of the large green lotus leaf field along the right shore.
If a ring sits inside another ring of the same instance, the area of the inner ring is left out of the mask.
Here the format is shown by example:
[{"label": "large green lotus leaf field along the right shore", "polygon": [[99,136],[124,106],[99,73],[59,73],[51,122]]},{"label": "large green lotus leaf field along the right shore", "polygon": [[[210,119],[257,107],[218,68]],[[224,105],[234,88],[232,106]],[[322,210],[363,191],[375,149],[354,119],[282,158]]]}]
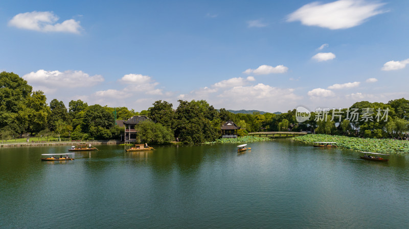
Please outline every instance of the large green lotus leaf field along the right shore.
[{"label": "large green lotus leaf field along the right shore", "polygon": [[292,138],[298,142],[313,144],[314,142],[336,142],[339,147],[367,152],[408,153],[409,141],[395,139],[356,138],[325,134],[309,134]]}]

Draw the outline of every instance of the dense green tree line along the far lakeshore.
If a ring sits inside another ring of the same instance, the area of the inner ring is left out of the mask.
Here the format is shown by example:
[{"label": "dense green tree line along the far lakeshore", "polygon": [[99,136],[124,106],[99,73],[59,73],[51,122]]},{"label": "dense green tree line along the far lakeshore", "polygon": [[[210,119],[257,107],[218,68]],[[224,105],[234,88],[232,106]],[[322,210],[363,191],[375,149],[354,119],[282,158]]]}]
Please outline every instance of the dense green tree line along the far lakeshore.
[{"label": "dense green tree line along the far lakeshore", "polygon": [[[0,73],[0,137],[42,136],[44,139],[58,137],[71,140],[120,139],[123,128],[115,124],[117,119],[127,120],[133,115],[146,115],[151,122],[137,125],[137,141],[164,143],[179,140],[185,143],[214,141],[221,137],[221,125],[232,120],[241,129],[239,136],[260,131],[309,131],[312,133],[349,135],[372,138],[403,137],[408,130],[409,100],[404,98],[389,101],[387,104],[360,101],[350,108],[338,111],[332,118],[317,118],[317,112],[304,122],[296,119],[296,109],[286,113],[274,114],[253,112],[234,114],[228,110],[215,109],[206,100],[178,100],[179,105],[158,100],[152,107],[135,112],[126,107],[111,108],[101,105],[88,106],[82,100],[71,100],[68,108],[62,101],[53,99],[47,104],[42,91],[33,91],[27,81],[13,72]],[[376,121],[376,112],[368,121],[368,114],[352,120],[348,112],[353,109],[389,110],[388,121]],[[338,119],[339,118],[339,119]],[[339,121],[342,119],[342,121]]]}]

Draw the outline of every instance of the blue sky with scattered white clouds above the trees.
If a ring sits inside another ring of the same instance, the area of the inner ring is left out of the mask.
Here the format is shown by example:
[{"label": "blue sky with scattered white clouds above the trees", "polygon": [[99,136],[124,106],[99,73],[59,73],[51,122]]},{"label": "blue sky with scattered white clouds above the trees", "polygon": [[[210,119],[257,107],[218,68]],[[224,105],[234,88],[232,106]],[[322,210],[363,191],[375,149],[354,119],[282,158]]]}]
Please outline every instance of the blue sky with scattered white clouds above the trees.
[{"label": "blue sky with scattered white clouds above the trees", "polygon": [[0,70],[66,106],[387,103],[409,98],[407,12],[409,1],[7,1]]}]

